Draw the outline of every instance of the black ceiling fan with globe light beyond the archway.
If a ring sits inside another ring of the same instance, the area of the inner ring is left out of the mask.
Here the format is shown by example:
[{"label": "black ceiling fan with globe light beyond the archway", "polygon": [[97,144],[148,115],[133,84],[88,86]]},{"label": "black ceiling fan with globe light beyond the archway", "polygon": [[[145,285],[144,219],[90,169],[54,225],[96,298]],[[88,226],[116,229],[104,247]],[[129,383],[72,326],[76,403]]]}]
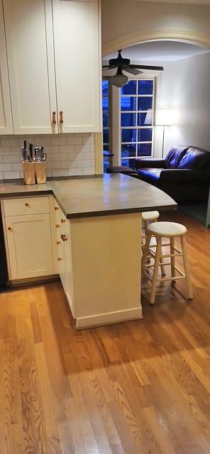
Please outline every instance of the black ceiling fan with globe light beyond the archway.
[{"label": "black ceiling fan with globe light beyond the archway", "polygon": [[128,84],[128,76],[123,74],[123,71],[130,72],[130,74],[133,74],[134,76],[142,74],[143,71],[140,70],[163,71],[162,66],[131,65],[131,60],[129,60],[129,58],[123,58],[121,51],[121,49],[118,50],[117,58],[111,58],[111,60],[109,60],[109,65],[102,66],[103,70],[113,70],[114,68],[117,68],[116,74],[110,78],[111,84],[115,85],[115,87],[120,88]]}]

